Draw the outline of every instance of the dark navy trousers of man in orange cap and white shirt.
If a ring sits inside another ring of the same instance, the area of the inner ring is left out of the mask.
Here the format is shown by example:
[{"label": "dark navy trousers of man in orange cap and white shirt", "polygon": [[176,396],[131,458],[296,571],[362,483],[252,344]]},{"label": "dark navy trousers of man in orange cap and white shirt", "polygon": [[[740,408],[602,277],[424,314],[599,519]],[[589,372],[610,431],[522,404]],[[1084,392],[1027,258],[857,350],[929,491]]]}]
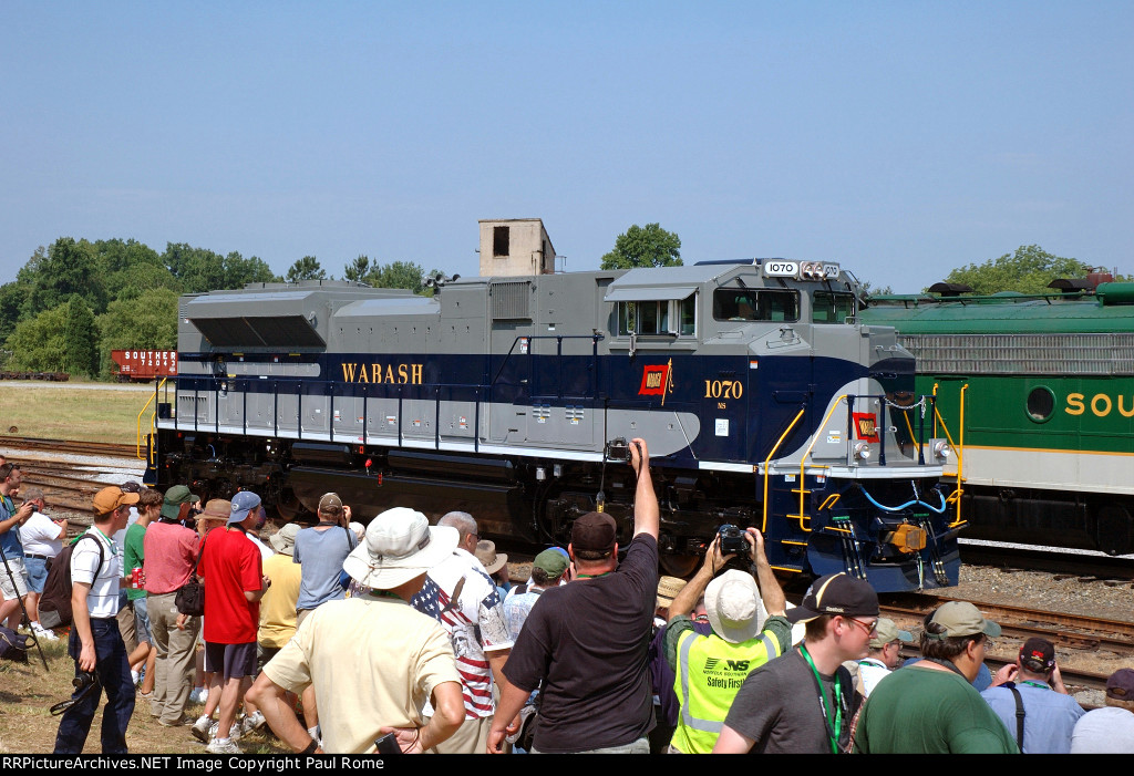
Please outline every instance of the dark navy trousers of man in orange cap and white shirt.
[{"label": "dark navy trousers of man in orange cap and white shirt", "polygon": [[[118,621],[113,617],[92,619],[91,634],[94,637],[94,672],[99,676],[101,687],[94,688],[64,711],[59,720],[59,732],[56,734],[56,754],[83,752],[103,690],[107,692],[107,707],[102,710],[102,753],[127,753],[126,727],[134,714],[134,682],[130,680],[130,666],[126,662],[126,645],[122,643],[122,636],[118,631]],[[78,667],[81,649],[78,629],[71,625],[67,653],[75,660],[76,676],[83,673]],[[77,696],[78,692],[71,697]]]}]

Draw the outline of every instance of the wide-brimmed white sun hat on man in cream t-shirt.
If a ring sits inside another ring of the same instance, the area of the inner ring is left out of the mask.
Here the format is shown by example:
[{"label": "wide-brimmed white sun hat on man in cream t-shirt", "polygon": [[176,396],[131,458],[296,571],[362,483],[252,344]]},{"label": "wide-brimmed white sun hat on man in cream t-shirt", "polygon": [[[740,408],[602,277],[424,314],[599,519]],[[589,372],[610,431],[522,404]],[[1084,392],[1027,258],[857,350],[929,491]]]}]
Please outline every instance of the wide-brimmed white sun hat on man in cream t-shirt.
[{"label": "wide-brimmed white sun hat on man in cream t-shirt", "polygon": [[342,570],[359,585],[389,590],[452,555],[458,537],[456,528],[430,526],[417,510],[395,506],[370,521],[366,540],[347,555]]}]

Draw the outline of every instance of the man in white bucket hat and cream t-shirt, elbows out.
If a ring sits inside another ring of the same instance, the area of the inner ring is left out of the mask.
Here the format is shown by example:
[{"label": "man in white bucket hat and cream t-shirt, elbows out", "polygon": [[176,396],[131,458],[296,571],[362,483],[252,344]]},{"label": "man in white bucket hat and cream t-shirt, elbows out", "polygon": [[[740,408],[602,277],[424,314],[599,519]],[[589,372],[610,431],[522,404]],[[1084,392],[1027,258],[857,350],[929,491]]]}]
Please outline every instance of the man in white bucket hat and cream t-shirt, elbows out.
[{"label": "man in white bucket hat and cream t-shirt, elbows out", "polygon": [[[392,733],[401,751],[416,753],[457,731],[465,709],[449,636],[408,606],[425,572],[456,546],[455,528],[430,527],[415,510],[395,508],[371,521],[342,563],[371,592],[312,612],[248,691],[276,735],[302,753],[365,753]],[[308,684],[323,748],[282,699]],[[421,716],[426,700],[434,709],[428,724]]]}]

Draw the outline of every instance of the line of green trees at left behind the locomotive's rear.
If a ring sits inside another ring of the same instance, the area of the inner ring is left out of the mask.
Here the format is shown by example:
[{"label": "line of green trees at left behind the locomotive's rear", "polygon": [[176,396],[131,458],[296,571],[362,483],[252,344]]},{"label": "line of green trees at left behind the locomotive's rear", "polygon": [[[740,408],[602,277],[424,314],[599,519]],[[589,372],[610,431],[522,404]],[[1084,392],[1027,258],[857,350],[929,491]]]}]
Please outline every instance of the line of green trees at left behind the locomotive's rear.
[{"label": "line of green trees at left behind the locomotive's rear", "polygon": [[[430,274],[413,262],[381,264],[358,256],[342,278],[381,288],[432,293]],[[110,351],[175,350],[177,298],[239,289],[246,283],[330,280],[314,256],[284,276],[262,258],[219,254],[184,242],[163,253],[137,240],[60,237],[40,247],[0,285],[0,341],[8,370],[67,372],[108,378]]]}]

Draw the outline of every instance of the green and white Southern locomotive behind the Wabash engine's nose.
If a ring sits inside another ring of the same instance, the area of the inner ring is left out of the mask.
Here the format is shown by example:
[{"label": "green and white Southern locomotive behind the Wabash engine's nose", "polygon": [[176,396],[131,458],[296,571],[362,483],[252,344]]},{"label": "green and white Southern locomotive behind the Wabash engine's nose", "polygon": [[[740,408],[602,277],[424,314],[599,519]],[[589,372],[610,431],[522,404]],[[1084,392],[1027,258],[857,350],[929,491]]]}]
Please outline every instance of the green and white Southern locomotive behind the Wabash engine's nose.
[{"label": "green and white Southern locomotive behind the Wabash engine's nose", "polygon": [[[1134,552],[1134,283],[872,299],[960,453],[973,538]],[[932,290],[932,289],[931,289]],[[938,428],[945,434],[943,428]],[[959,471],[958,471],[959,469]]]}]

